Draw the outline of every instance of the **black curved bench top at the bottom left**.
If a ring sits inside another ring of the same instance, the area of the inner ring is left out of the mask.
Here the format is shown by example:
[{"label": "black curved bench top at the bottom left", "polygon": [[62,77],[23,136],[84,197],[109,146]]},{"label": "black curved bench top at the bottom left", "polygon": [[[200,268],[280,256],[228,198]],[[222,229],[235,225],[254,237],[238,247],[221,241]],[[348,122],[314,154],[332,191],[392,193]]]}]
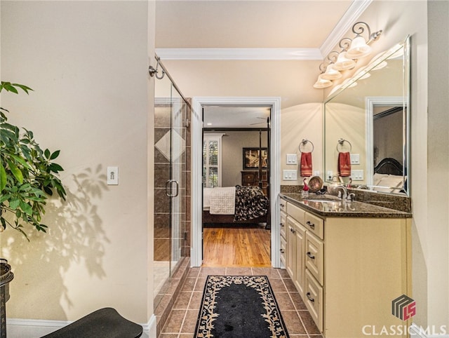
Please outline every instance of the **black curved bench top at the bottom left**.
[{"label": "black curved bench top at the bottom left", "polygon": [[41,338],[138,338],[142,325],[123,318],[112,308],[104,308]]}]

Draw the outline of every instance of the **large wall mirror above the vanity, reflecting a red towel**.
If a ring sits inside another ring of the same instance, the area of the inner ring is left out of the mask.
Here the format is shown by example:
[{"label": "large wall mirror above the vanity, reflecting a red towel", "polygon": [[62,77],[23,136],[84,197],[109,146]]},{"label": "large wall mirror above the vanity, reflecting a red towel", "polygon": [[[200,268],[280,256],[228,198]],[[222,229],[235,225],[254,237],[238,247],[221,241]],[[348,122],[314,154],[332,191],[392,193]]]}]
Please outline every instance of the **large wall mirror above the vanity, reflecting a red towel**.
[{"label": "large wall mirror above the vanity, reflecting a red towel", "polygon": [[350,178],[353,187],[410,196],[409,43],[407,36],[330,92],[324,104],[326,182]]}]

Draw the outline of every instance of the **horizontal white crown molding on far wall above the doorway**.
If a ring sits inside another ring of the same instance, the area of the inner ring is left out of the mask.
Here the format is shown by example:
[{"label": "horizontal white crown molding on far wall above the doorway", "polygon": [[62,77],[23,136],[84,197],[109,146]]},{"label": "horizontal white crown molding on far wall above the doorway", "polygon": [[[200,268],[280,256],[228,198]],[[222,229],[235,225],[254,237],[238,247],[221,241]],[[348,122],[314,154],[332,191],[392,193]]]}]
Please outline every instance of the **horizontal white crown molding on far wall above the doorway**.
[{"label": "horizontal white crown molding on far wall above the doorway", "polygon": [[318,48],[156,48],[161,60],[322,60]]}]

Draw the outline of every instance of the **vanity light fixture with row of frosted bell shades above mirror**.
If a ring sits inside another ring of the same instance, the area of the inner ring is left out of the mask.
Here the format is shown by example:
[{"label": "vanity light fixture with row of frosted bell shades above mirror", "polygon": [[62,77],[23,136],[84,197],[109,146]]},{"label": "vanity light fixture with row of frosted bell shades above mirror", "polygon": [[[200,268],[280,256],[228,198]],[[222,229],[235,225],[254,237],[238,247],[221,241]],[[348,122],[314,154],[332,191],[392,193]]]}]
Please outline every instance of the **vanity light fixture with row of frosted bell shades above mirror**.
[{"label": "vanity light fixture with row of frosted bell shades above mirror", "polygon": [[[364,32],[368,32],[368,40],[363,37]],[[352,32],[356,34],[354,39],[347,37],[340,40],[338,46],[340,46],[340,52],[333,50],[330,52],[324,62],[320,65],[321,74],[318,80],[314,84],[314,88],[327,88],[333,85],[332,82],[336,79],[340,79],[345,70],[353,69],[356,66],[356,60],[366,57],[371,53],[371,47],[368,46],[371,42],[379,39],[382,30],[371,34],[371,29],[366,22],[356,22],[352,26]],[[323,71],[326,69],[326,72]],[[369,73],[366,77],[370,76]]]}]

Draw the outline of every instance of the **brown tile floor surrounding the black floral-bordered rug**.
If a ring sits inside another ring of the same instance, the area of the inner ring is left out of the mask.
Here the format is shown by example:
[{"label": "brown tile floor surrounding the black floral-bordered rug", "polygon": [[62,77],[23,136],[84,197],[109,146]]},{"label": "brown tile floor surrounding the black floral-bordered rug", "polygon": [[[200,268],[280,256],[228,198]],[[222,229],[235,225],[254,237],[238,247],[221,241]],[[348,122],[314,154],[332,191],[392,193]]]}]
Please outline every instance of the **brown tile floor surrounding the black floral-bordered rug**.
[{"label": "brown tile floor surrounding the black floral-bordered rug", "polygon": [[[302,302],[292,280],[284,269],[274,268],[215,268],[201,267],[189,270],[180,295],[175,300],[166,325],[159,338],[193,337],[198,318],[204,283],[208,275],[266,275],[291,338],[321,338],[314,320]],[[250,337],[248,337],[250,338]],[[251,337],[252,338],[252,337]]]}]

